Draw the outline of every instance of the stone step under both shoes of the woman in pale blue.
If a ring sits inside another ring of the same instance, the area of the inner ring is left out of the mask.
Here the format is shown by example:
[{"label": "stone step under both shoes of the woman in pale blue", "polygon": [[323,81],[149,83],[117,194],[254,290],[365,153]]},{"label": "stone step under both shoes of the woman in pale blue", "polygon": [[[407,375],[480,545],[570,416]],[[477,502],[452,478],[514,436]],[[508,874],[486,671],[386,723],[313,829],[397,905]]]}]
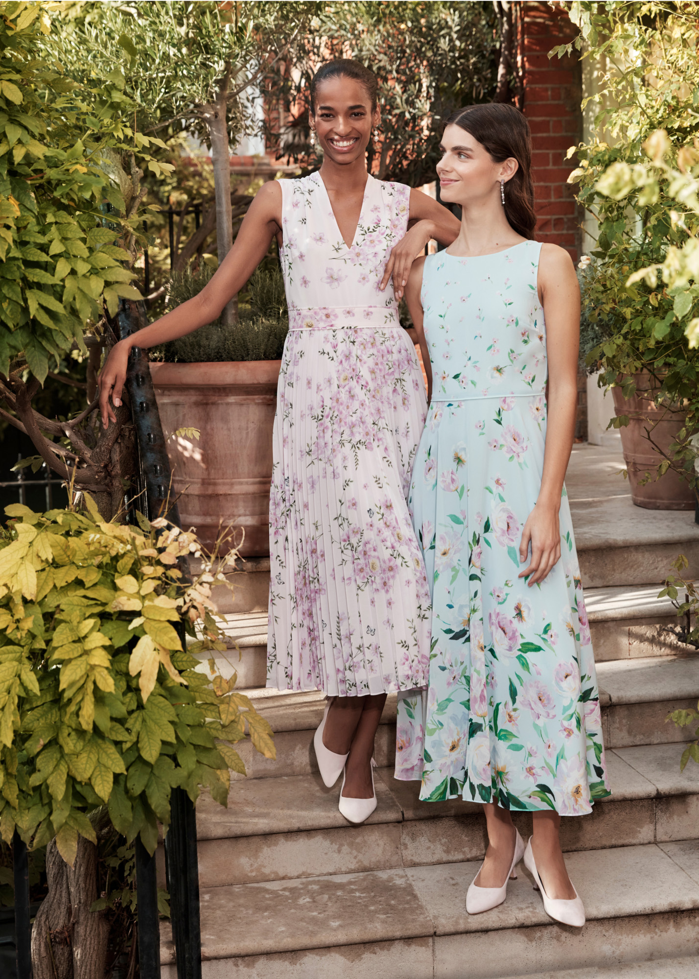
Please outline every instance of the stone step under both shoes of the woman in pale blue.
[{"label": "stone step under both shoes of the woman in pale blue", "polygon": [[[203,979],[500,979],[696,954],[699,843],[569,854],[582,929],[544,912],[520,864],[506,902],[466,913],[478,862],[203,888]],[[163,977],[174,979],[168,924]],[[473,963],[477,963],[477,971]],[[513,972],[514,969],[514,972]]]}]

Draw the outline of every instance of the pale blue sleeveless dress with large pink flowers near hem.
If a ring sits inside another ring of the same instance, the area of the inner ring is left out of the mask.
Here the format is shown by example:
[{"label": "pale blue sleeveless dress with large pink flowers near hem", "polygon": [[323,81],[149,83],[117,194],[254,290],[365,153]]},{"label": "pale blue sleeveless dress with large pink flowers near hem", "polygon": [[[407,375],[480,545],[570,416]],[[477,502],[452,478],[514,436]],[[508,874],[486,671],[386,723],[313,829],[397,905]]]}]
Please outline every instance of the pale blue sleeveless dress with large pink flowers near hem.
[{"label": "pale blue sleeveless dress with large pink flowers near hem", "polygon": [[540,248],[425,262],[434,392],[409,502],[433,648],[427,694],[398,702],[396,778],[428,801],[581,816],[610,793],[565,488],[561,559],[532,588],[517,577],[546,434]]}]

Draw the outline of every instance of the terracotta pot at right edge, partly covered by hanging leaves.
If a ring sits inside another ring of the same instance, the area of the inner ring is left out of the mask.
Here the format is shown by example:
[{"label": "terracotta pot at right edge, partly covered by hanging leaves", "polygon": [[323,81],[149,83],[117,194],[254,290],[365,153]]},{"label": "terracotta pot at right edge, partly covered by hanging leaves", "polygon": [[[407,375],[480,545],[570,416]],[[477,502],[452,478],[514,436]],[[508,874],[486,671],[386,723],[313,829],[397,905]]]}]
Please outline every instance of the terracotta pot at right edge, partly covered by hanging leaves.
[{"label": "terracotta pot at right edge, partly covered by hanging leaves", "polygon": [[[613,388],[614,408],[618,415],[629,415],[629,425],[620,428],[624,459],[629,470],[631,499],[636,506],[647,510],[693,510],[695,496],[686,480],[669,469],[660,479],[655,478],[663,457],[648,442],[645,429],[652,430],[653,442],[665,452],[675,442],[676,434],[684,425],[681,413],[668,413],[653,404],[652,393],[658,383],[649,374],[635,375],[636,394],[626,398],[621,388]],[[664,417],[665,416],[665,417]],[[660,421],[660,419],[663,419]],[[644,486],[639,481],[649,472],[651,479]]]}]

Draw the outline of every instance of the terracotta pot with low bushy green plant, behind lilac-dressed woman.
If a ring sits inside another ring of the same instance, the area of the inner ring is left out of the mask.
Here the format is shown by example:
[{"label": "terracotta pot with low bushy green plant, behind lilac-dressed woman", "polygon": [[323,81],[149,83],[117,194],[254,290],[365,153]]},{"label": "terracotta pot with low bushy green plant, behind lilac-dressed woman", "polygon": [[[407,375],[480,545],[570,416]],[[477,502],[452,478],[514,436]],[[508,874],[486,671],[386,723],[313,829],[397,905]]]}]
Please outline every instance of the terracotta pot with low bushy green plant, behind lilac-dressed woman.
[{"label": "terracotta pot with low bushy green plant, behind lilac-dressed woman", "polygon": [[[169,307],[196,296],[211,274],[203,265],[175,275]],[[241,555],[253,557],[269,554],[272,426],[288,330],[276,262],[256,270],[247,299],[238,323],[216,321],[154,350],[151,373],[183,524],[207,546],[221,523],[231,525],[244,532]]]}]

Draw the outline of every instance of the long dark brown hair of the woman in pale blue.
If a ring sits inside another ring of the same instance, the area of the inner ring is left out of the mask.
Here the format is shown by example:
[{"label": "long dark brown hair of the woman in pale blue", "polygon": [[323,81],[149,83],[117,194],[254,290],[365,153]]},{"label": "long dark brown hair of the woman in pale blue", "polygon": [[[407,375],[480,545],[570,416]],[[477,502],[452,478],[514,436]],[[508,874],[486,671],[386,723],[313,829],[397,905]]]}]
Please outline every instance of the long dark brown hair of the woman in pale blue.
[{"label": "long dark brown hair of the woman in pale blue", "polygon": [[478,140],[495,163],[514,158],[517,172],[505,183],[505,216],[518,235],[534,238],[536,213],[532,182],[532,132],[514,106],[489,102],[452,113],[445,125],[457,125]]}]

